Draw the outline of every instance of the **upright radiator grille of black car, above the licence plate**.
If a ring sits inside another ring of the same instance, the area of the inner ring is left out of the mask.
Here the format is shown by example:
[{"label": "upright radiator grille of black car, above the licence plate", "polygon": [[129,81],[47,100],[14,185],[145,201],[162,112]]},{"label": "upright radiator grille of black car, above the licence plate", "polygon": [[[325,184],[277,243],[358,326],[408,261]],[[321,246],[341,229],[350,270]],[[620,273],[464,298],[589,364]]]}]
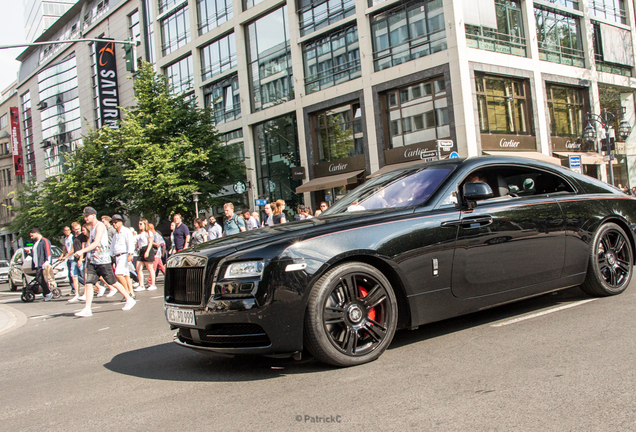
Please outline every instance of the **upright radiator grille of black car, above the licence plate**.
[{"label": "upright radiator grille of black car, above the licence plate", "polygon": [[204,280],[205,267],[166,268],[165,297],[173,304],[200,305]]}]

